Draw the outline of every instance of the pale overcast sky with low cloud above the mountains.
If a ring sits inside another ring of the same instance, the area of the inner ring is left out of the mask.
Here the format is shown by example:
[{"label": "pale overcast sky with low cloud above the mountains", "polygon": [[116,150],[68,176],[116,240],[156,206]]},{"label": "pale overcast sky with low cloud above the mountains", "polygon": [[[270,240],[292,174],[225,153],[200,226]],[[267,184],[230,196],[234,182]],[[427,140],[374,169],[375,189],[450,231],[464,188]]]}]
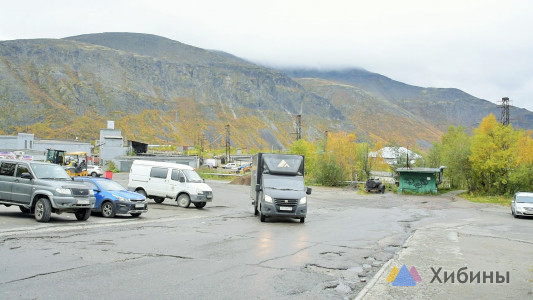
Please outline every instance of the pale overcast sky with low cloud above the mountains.
[{"label": "pale overcast sky with low cloud above the mountains", "polygon": [[0,0],[0,40],[139,32],[275,66],[361,67],[533,111],[533,1]]}]

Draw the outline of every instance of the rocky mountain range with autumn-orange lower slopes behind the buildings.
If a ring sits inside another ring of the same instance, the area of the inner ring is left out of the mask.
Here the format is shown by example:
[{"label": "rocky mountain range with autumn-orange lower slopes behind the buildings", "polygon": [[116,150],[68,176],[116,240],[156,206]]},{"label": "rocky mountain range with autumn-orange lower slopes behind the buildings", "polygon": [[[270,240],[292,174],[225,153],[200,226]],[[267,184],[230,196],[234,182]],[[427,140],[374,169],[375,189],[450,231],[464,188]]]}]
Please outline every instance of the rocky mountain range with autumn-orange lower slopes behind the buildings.
[{"label": "rocky mountain range with autumn-orange lower slopes behind the buildings", "polygon": [[[310,140],[342,130],[360,141],[429,148],[448,126],[472,129],[497,111],[457,89],[409,86],[363,69],[266,68],[138,33],[0,42],[0,98],[3,134],[94,139],[95,124],[113,119],[129,139],[192,145],[204,136],[220,147],[231,125],[232,145],[249,149],[287,148],[296,115]],[[464,107],[479,116],[466,119]],[[533,114],[523,116],[533,129]]]}]

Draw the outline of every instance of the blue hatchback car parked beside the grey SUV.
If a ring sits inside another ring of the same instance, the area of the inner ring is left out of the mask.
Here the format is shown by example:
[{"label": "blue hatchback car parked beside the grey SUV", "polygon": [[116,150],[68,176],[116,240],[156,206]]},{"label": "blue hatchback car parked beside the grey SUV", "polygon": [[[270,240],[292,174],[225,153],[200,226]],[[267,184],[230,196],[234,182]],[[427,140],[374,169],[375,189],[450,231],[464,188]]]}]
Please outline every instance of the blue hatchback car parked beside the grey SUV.
[{"label": "blue hatchback car parked beside the grey SUV", "polygon": [[96,203],[92,211],[101,213],[103,217],[112,218],[116,214],[138,217],[148,211],[145,196],[126,190],[116,181],[98,177],[74,177],[74,181],[82,182],[94,190]]}]

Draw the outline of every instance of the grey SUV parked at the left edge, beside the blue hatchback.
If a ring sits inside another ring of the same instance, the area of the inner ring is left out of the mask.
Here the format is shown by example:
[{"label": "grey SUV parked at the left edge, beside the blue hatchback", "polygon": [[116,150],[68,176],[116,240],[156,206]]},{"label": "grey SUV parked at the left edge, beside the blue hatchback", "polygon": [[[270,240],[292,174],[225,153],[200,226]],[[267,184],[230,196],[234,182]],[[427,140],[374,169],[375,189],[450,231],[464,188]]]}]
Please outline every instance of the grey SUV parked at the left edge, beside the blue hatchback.
[{"label": "grey SUV parked at the left edge, beside the blue hatchback", "polygon": [[17,205],[48,222],[51,213],[74,213],[87,220],[94,207],[94,191],[76,183],[59,165],[0,159],[0,204]]}]

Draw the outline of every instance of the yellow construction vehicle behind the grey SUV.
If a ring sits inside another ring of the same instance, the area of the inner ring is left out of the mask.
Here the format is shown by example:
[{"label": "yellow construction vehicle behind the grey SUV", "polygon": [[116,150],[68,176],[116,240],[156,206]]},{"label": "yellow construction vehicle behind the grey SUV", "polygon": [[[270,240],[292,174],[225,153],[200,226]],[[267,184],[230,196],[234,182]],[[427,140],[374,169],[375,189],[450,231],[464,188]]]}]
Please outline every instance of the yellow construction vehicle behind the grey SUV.
[{"label": "yellow construction vehicle behind the grey SUV", "polygon": [[70,177],[89,175],[87,172],[87,152],[67,153],[65,150],[48,149],[45,161],[63,166]]}]

